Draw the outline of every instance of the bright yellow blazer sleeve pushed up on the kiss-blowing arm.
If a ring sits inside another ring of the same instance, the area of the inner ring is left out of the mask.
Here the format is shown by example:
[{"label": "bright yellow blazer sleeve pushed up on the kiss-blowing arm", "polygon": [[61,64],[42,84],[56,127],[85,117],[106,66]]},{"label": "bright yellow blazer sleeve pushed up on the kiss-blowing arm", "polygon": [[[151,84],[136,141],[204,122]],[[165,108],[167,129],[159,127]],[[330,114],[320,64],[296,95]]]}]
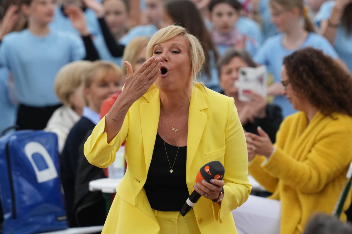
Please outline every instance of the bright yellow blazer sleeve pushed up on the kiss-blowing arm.
[{"label": "bright yellow blazer sleeve pushed up on the kiss-blowing arm", "polygon": [[107,142],[107,134],[104,132],[105,118],[106,116],[99,121],[86,143],[84,143],[84,155],[86,155],[87,160],[90,164],[100,168],[106,168],[115,161],[116,152],[127,137],[130,111],[127,112],[120,132],[111,142]]}]

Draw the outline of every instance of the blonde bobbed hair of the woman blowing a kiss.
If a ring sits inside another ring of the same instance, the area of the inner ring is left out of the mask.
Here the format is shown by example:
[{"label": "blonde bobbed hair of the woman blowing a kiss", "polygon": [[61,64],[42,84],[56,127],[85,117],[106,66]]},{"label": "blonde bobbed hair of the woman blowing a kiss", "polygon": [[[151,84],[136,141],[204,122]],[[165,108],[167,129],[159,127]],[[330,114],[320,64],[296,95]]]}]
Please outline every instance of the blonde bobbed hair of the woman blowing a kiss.
[{"label": "blonde bobbed hair of the woman blowing a kiss", "polygon": [[149,59],[153,55],[153,49],[156,44],[168,41],[178,35],[184,36],[184,38],[187,40],[187,48],[192,69],[191,86],[195,86],[197,83],[197,74],[203,66],[205,56],[203,47],[199,40],[194,35],[188,33],[185,28],[176,25],[169,25],[156,32],[147,45],[146,59]]}]

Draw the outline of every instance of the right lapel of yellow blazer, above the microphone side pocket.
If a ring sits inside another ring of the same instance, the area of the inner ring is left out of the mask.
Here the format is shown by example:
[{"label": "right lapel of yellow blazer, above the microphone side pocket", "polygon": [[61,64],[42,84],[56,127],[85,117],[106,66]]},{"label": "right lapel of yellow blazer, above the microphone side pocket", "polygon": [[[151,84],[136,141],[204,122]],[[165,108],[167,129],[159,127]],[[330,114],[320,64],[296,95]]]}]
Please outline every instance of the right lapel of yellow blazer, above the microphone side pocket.
[{"label": "right lapel of yellow blazer, above the microphone side pocket", "polygon": [[188,113],[188,136],[187,136],[187,166],[186,172],[190,171],[190,167],[196,154],[199,142],[207,122],[208,116],[201,112],[207,109],[207,103],[199,88],[192,89],[191,100],[189,103]]}]

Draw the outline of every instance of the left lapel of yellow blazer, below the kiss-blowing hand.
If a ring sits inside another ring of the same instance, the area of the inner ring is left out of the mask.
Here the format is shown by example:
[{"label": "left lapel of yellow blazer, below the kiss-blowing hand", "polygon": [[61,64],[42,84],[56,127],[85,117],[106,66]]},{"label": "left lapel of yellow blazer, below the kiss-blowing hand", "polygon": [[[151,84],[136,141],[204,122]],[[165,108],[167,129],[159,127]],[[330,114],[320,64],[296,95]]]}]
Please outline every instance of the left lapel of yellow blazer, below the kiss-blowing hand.
[{"label": "left lapel of yellow blazer, below the kiss-blowing hand", "polygon": [[140,123],[142,128],[145,168],[147,172],[152,159],[156,133],[158,131],[160,114],[160,96],[158,89],[151,89],[150,92],[144,94],[144,98],[148,103],[142,103],[140,105]]}]

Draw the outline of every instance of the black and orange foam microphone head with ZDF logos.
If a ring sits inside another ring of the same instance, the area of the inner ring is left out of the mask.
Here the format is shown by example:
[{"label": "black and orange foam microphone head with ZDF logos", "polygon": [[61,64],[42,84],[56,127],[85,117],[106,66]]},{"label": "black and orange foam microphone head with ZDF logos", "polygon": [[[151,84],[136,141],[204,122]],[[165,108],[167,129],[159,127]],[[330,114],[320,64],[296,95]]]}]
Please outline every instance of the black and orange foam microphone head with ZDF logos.
[{"label": "black and orange foam microphone head with ZDF logos", "polygon": [[[210,183],[211,179],[222,180],[224,178],[225,168],[219,161],[211,161],[202,166],[196,177],[196,182],[202,179]],[[202,178],[201,178],[202,177]]]}]

